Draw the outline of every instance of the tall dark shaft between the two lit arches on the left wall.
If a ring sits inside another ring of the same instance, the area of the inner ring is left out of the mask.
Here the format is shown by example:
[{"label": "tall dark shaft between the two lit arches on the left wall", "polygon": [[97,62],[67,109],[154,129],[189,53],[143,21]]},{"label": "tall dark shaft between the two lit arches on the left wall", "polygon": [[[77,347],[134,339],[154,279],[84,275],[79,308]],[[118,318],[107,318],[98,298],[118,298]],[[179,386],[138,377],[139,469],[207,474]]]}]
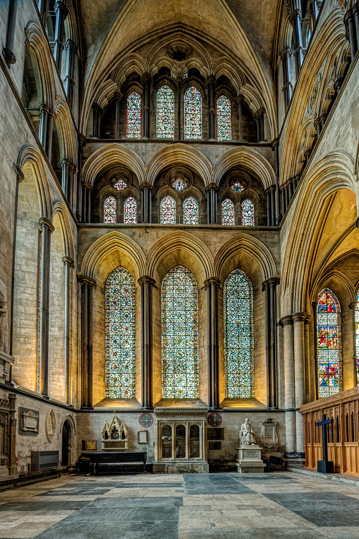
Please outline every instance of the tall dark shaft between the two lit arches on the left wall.
[{"label": "tall dark shaft between the two lit arches on the left wall", "polygon": [[41,264],[39,301],[39,380],[38,391],[48,392],[48,304],[50,298],[50,241],[54,227],[50,220],[41,217]]}]

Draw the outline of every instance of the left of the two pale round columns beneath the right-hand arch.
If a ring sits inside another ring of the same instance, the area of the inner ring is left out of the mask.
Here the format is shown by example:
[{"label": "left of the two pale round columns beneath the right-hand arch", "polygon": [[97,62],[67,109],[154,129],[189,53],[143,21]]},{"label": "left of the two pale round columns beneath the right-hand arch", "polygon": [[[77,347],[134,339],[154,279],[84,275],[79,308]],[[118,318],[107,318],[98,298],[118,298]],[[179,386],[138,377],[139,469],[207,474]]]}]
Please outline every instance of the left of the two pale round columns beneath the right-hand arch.
[{"label": "left of the two pale round columns beneath the right-hand arch", "polygon": [[292,316],[281,319],[283,325],[284,392],[285,392],[285,458],[296,456],[295,446],[295,394],[294,394],[294,348]]}]

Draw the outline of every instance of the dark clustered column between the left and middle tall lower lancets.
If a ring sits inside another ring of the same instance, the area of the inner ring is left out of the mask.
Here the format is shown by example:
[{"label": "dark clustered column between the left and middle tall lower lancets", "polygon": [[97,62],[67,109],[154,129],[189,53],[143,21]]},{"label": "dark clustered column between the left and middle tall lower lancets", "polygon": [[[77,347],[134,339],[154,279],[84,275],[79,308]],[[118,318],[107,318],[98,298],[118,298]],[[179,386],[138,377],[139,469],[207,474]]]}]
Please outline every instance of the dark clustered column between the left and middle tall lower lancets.
[{"label": "dark clustered column between the left and middle tall lower lancets", "polygon": [[152,287],[156,281],[149,275],[138,279],[141,287],[141,404],[152,408]]}]

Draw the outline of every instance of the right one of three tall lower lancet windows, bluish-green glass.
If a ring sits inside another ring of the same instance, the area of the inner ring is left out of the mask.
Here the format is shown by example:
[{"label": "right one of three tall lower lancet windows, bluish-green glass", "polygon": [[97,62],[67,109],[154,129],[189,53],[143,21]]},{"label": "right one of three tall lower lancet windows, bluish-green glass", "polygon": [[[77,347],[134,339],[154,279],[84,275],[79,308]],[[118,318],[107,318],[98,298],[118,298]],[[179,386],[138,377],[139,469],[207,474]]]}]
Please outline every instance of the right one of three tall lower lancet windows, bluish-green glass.
[{"label": "right one of three tall lower lancet windows, bluish-green glass", "polygon": [[253,398],[253,288],[241,269],[228,275],[223,300],[226,398]]}]

